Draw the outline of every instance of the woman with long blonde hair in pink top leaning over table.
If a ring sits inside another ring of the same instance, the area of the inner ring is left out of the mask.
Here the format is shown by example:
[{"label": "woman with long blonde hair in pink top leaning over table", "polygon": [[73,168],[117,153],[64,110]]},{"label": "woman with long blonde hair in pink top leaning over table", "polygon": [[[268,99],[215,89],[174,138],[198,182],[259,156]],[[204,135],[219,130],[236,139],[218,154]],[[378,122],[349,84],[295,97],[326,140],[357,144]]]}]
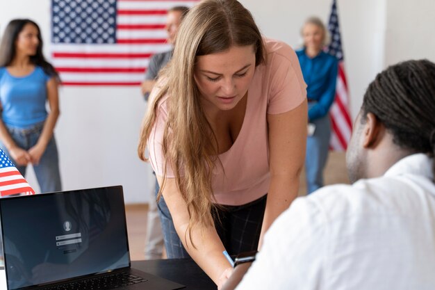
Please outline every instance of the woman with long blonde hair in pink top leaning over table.
[{"label": "woman with long blonde hair in pink top leaning over table", "polygon": [[[151,92],[138,153],[161,185],[167,255],[218,286],[222,255],[256,250],[299,188],[306,91],[293,49],[262,37],[236,0],[205,0],[181,24]],[[187,250],[187,251],[186,251]]]}]

